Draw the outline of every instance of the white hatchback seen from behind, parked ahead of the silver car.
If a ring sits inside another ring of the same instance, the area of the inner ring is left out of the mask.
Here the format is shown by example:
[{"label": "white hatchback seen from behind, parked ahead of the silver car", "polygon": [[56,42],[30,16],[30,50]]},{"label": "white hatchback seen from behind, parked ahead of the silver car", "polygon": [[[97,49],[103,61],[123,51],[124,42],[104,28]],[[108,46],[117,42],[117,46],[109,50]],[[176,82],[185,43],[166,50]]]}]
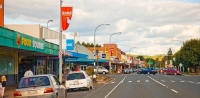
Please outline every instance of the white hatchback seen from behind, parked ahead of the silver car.
[{"label": "white hatchback seen from behind, parked ahead of the silver car", "polygon": [[92,79],[85,71],[73,71],[67,76],[65,87],[68,91],[93,88]]}]

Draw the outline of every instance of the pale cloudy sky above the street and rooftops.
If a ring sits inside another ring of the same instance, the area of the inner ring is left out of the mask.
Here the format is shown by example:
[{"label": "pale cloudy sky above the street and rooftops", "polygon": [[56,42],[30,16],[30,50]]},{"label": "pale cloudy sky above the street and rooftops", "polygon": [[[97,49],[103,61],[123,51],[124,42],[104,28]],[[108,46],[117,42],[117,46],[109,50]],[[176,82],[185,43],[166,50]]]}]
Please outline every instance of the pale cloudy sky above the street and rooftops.
[{"label": "pale cloudy sky above the street and rooftops", "polygon": [[[40,24],[58,31],[60,0],[5,0],[5,24]],[[76,41],[112,43],[132,54],[166,54],[180,49],[182,42],[200,37],[200,0],[63,0],[73,7],[67,38]],[[176,41],[172,41],[176,40]]]}]

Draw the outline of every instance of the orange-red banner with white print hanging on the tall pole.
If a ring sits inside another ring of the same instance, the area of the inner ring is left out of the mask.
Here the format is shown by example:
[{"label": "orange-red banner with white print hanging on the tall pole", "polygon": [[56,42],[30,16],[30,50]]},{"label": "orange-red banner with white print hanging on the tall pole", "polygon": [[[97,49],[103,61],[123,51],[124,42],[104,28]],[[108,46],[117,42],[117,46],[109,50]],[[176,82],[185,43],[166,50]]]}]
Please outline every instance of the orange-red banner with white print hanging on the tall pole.
[{"label": "orange-red banner with white print hanging on the tall pole", "polygon": [[67,30],[72,19],[72,7],[62,7],[62,30]]}]

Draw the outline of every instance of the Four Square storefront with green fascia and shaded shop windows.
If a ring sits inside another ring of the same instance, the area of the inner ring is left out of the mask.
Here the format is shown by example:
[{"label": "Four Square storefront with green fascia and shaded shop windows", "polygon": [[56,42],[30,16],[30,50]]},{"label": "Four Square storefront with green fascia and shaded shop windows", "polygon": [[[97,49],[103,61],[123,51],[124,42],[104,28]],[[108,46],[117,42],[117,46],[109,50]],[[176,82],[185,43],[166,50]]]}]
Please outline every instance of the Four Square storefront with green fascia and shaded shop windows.
[{"label": "Four Square storefront with green fascia and shaded shop windows", "polygon": [[58,51],[56,44],[0,27],[0,75],[6,75],[8,84],[17,83],[27,68],[47,73],[48,59],[39,57],[57,56]]}]

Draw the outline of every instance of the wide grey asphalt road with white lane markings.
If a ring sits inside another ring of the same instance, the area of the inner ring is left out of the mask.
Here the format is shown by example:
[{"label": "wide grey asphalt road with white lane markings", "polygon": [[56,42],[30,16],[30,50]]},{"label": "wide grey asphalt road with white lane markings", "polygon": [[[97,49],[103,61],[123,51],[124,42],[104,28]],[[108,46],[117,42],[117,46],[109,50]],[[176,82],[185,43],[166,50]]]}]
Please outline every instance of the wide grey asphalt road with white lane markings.
[{"label": "wide grey asphalt road with white lane markings", "polygon": [[115,80],[90,91],[69,92],[68,98],[200,98],[200,76],[110,75]]}]

